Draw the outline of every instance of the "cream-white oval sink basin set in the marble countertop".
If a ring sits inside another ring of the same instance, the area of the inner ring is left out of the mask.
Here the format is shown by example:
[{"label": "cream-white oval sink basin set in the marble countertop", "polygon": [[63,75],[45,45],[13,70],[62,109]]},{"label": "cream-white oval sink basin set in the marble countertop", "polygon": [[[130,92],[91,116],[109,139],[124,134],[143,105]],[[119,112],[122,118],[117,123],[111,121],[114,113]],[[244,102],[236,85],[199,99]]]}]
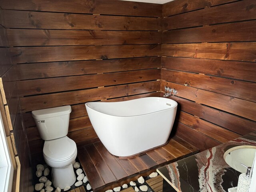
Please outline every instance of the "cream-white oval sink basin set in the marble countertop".
[{"label": "cream-white oval sink basin set in the marble countertop", "polygon": [[235,170],[246,173],[245,166],[251,167],[256,152],[256,146],[243,145],[230,148],[224,153],[224,160],[226,163]]}]

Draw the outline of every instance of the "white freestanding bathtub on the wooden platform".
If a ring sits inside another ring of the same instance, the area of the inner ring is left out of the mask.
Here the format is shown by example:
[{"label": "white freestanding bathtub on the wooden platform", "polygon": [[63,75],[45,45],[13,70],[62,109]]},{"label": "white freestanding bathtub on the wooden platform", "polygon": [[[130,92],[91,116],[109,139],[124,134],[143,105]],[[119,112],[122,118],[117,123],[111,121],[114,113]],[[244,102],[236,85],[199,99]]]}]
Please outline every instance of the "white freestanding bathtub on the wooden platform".
[{"label": "white freestanding bathtub on the wooden platform", "polygon": [[88,102],[85,106],[102,144],[111,154],[120,157],[165,144],[177,110],[176,101],[161,97]]}]

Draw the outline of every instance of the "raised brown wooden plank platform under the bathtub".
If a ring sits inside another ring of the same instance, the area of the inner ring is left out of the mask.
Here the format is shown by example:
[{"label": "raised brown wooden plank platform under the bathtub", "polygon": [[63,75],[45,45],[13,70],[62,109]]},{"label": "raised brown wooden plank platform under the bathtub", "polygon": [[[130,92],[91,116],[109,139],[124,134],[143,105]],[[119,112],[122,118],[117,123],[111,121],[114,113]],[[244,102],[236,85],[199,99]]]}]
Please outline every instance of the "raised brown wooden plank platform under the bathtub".
[{"label": "raised brown wooden plank platform under the bathtub", "polygon": [[79,146],[78,158],[93,191],[96,192],[197,152],[198,148],[174,136],[164,146],[127,159],[113,156],[98,141]]}]

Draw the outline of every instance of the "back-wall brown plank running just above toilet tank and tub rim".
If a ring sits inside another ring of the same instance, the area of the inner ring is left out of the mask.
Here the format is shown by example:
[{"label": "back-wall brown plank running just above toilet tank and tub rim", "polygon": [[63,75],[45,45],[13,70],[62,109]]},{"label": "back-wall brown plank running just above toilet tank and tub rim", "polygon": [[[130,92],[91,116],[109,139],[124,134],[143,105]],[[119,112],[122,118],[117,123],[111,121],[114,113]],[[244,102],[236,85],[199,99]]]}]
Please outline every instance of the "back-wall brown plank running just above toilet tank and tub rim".
[{"label": "back-wall brown plank running just above toilet tank and tub rim", "polygon": [[72,92],[62,92],[39,96],[20,98],[23,112],[52,108],[63,105],[85,103],[88,101],[105,100],[108,98],[122,97],[147,92],[156,92],[160,81],[135,83],[119,86],[101,87]]}]

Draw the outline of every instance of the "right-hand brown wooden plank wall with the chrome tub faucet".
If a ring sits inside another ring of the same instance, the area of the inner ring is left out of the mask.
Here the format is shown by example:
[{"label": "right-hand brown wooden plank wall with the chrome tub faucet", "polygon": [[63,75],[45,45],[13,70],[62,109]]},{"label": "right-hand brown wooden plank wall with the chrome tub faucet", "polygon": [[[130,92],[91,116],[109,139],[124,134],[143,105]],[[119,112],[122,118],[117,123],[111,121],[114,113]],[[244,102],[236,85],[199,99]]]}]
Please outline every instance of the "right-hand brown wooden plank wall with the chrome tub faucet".
[{"label": "right-hand brown wooden plank wall with the chrome tub faucet", "polygon": [[176,135],[205,150],[256,130],[256,1],[163,5],[161,91],[178,90]]}]

